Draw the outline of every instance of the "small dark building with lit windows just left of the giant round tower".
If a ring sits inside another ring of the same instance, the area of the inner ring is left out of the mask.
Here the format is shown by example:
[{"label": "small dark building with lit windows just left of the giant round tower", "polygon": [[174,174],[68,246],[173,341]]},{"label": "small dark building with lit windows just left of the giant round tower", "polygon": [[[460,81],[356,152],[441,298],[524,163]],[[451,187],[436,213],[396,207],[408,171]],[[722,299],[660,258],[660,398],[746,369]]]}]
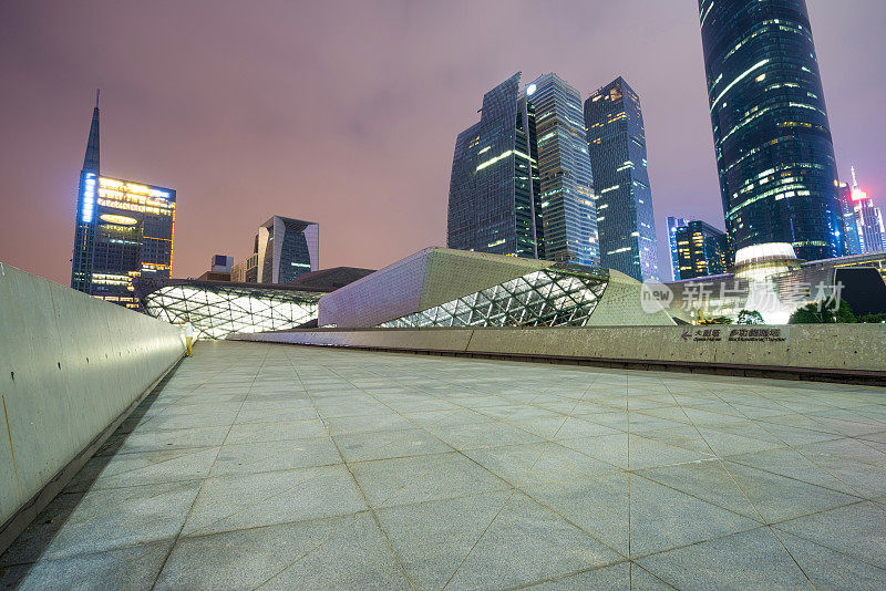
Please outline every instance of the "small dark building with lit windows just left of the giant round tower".
[{"label": "small dark building with lit windows just left of the giant round tower", "polygon": [[[668,221],[672,219],[668,218]],[[682,221],[673,229],[677,246],[674,280],[731,272],[734,262],[729,235],[698,219]]]}]

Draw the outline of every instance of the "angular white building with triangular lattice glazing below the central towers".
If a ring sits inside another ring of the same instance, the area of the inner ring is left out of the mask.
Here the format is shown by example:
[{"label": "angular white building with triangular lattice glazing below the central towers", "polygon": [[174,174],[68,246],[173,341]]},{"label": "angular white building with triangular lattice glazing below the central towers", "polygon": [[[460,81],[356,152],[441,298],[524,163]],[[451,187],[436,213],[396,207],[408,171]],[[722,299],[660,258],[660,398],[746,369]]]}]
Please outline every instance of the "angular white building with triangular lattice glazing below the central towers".
[{"label": "angular white building with triangular lattice glazing below the central towers", "polygon": [[320,326],[673,325],[618,271],[426,248],[323,296]]}]

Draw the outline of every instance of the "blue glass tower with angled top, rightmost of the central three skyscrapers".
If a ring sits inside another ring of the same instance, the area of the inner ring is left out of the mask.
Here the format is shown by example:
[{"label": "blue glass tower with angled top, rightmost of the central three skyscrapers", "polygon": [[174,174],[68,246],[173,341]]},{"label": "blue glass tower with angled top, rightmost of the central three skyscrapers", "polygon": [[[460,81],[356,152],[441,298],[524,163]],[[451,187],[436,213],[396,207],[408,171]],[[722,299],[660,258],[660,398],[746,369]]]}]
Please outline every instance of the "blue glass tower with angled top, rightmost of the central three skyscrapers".
[{"label": "blue glass tower with angled top, rightmost of the central three skyscrapers", "polygon": [[658,280],[656,224],[640,97],[620,76],[585,101],[600,263]]}]

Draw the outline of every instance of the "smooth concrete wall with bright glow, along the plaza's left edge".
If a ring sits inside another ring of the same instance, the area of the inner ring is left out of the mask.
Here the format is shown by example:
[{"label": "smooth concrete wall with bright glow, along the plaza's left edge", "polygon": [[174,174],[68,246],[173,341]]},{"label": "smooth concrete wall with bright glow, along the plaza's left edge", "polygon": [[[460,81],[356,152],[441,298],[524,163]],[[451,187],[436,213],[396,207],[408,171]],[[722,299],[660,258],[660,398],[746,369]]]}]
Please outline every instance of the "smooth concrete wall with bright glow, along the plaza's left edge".
[{"label": "smooth concrete wall with bright glow, along the plaza's left edge", "polygon": [[0,551],[183,351],[177,326],[0,263]]}]

